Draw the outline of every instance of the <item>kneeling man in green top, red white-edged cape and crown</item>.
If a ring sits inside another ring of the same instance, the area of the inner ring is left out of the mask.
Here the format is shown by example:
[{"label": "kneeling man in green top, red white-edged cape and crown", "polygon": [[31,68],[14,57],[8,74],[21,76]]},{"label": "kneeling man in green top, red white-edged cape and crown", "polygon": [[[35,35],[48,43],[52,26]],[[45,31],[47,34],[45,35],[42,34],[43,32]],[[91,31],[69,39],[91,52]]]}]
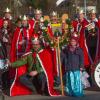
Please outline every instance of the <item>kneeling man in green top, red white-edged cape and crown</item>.
[{"label": "kneeling man in green top, red white-edged cape and crown", "polygon": [[[23,58],[10,64],[13,68],[20,68],[19,66],[28,64],[27,71],[19,77],[16,76],[15,79],[19,79],[24,86],[35,92],[35,87],[30,78],[38,76],[38,79],[42,81],[40,81],[40,84],[44,84],[44,86],[47,84],[46,89],[48,90],[50,96],[59,96],[59,92],[54,89],[54,75],[56,71],[54,71],[53,68],[54,62],[52,53],[48,49],[41,48],[41,42],[38,40],[37,34],[34,34],[32,39],[32,47],[32,52],[26,53]],[[43,76],[46,78],[46,81],[43,80]],[[11,91],[11,93],[13,92],[14,94],[17,92],[16,86],[18,83],[16,83],[16,80],[15,84],[13,84],[13,87],[15,88],[13,88],[13,91]],[[19,88],[19,91],[21,91],[21,89],[22,88]]]}]

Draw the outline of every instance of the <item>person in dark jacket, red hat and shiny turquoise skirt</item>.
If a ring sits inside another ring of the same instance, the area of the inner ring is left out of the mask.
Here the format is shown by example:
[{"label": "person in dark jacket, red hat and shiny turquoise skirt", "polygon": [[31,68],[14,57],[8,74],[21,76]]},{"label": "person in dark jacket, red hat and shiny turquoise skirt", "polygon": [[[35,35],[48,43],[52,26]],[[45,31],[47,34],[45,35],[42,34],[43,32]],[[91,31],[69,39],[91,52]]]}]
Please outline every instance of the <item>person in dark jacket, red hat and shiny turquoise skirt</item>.
[{"label": "person in dark jacket, red hat and shiny turquoise skirt", "polygon": [[78,45],[78,40],[78,35],[73,33],[69,45],[62,51],[66,71],[65,91],[68,95],[75,97],[83,96],[80,71],[83,70],[84,57],[83,51]]}]

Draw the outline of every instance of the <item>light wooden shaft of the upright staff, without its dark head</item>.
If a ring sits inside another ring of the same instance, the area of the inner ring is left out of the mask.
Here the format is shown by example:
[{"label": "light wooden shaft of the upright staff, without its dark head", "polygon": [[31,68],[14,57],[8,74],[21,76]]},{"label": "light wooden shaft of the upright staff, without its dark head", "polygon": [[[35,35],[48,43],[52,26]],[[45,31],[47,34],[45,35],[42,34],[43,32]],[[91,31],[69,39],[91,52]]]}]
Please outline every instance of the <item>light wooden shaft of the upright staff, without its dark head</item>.
[{"label": "light wooden shaft of the upright staff, without its dark head", "polygon": [[58,51],[58,65],[60,67],[60,80],[61,80],[61,93],[64,96],[64,86],[63,86],[63,78],[62,78],[62,66],[60,59],[60,46],[59,46],[59,37],[57,38],[57,51]]}]

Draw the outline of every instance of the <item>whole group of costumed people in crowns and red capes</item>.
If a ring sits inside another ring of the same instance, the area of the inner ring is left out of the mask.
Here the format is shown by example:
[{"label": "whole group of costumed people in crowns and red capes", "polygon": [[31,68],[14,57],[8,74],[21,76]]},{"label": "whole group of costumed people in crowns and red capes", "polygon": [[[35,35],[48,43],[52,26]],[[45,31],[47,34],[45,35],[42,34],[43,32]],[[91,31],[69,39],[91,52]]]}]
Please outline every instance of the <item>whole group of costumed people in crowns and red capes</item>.
[{"label": "whole group of costumed people in crowns and red capes", "polygon": [[[83,96],[93,86],[95,65],[100,60],[100,20],[79,10],[75,19],[59,18],[40,9],[15,19],[10,9],[0,19],[0,63],[8,70],[1,83],[10,96],[41,94]],[[0,68],[0,70],[2,70]],[[55,89],[55,84],[61,89]],[[65,91],[64,91],[65,90]],[[65,93],[66,92],[66,93]]]}]

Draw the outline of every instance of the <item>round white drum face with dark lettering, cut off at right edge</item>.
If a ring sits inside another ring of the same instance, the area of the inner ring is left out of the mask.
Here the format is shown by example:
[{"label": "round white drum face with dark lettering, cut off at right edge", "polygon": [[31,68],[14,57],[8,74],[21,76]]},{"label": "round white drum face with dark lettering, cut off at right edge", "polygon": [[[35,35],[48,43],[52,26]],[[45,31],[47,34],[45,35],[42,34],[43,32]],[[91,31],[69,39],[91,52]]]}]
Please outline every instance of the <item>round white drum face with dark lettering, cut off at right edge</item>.
[{"label": "round white drum face with dark lettering, cut off at right edge", "polygon": [[100,88],[100,62],[97,64],[95,68],[94,79],[95,79],[97,86]]}]

